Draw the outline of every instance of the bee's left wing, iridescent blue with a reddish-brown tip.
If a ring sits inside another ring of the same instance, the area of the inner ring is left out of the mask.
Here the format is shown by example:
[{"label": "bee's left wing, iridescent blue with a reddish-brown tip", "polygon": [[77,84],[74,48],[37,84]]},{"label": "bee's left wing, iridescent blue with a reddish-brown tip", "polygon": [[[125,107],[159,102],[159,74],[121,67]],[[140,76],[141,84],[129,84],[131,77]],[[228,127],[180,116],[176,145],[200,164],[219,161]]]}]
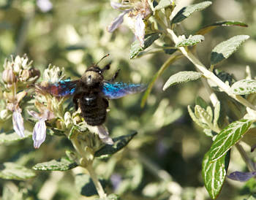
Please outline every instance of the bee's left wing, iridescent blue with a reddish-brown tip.
[{"label": "bee's left wing, iridescent blue with a reddish-brown tip", "polygon": [[47,86],[39,86],[39,88],[53,96],[71,96],[75,93],[77,82],[77,80],[67,79],[52,84],[49,83]]}]

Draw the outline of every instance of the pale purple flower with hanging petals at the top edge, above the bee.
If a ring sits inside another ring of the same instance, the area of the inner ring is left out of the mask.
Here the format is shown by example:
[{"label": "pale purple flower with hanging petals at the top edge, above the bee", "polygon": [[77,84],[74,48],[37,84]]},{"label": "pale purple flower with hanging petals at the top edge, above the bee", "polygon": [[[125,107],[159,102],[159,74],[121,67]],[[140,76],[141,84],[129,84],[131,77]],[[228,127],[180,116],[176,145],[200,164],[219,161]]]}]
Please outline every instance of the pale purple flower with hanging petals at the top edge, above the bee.
[{"label": "pale purple flower with hanging petals at the top edge, above the bee", "polygon": [[136,38],[140,42],[140,46],[144,46],[144,36],[145,36],[145,23],[144,18],[146,18],[150,13],[151,9],[149,7],[147,0],[141,0],[141,1],[129,1],[124,2],[122,4],[116,3],[111,1],[110,2],[111,7],[113,9],[118,9],[121,11],[121,14],[118,15],[118,17],[113,20],[112,23],[110,23],[110,26],[108,26],[108,31],[112,33],[113,31],[118,28],[118,26],[121,25],[124,21],[124,15],[128,14],[129,18],[132,18],[134,20],[133,26],[134,26],[134,34]]}]

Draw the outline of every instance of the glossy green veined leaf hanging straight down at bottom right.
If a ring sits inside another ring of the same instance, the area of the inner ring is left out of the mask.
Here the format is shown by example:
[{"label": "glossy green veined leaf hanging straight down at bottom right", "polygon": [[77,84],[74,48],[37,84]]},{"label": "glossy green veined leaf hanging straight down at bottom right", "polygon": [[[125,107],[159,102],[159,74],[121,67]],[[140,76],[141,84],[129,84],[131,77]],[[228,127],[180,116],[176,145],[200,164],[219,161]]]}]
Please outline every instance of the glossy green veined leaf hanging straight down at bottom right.
[{"label": "glossy green veined leaf hanging straight down at bottom right", "polygon": [[211,162],[210,152],[206,153],[203,158],[202,176],[211,199],[216,199],[222,189],[224,183],[227,167],[230,161],[230,153],[222,156],[217,161]]}]

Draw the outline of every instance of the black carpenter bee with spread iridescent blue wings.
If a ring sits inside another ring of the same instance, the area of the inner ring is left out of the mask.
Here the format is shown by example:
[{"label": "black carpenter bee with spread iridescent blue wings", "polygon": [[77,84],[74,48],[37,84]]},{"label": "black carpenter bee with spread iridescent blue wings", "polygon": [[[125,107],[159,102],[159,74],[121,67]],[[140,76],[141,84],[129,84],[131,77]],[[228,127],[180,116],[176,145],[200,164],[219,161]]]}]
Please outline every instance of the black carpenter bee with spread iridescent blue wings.
[{"label": "black carpenter bee with spread iridescent blue wings", "polygon": [[102,69],[94,64],[79,80],[61,80],[40,88],[53,96],[72,96],[75,109],[80,107],[81,115],[86,123],[90,126],[100,126],[105,122],[109,99],[118,99],[146,89],[144,84],[114,82],[119,70],[112,79],[105,80],[103,72],[108,69],[110,69],[110,64]]}]

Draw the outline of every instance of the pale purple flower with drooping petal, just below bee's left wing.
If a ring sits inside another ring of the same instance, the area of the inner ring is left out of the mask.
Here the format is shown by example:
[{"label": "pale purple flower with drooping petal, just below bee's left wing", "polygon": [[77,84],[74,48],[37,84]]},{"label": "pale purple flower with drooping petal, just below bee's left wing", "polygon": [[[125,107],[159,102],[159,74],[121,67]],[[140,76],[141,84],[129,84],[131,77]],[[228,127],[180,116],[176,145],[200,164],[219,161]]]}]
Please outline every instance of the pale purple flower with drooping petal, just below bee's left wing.
[{"label": "pale purple flower with drooping petal, just below bee's left wing", "polygon": [[53,113],[48,109],[42,114],[39,114],[34,111],[28,111],[29,115],[36,118],[38,122],[34,125],[32,139],[34,141],[34,147],[37,149],[42,145],[42,142],[45,142],[46,138],[46,125],[45,121],[53,118]]}]

